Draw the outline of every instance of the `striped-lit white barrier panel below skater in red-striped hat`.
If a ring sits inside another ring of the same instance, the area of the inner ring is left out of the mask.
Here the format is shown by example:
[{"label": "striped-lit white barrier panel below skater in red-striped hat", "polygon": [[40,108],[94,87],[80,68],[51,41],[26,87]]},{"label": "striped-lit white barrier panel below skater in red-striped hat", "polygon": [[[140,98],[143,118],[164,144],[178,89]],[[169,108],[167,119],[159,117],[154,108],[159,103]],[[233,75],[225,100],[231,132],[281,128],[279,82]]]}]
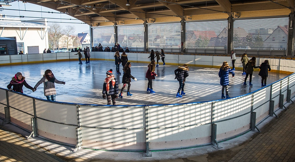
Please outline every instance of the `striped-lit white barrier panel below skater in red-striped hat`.
[{"label": "striped-lit white barrier panel below skater in red-striped hat", "polygon": [[[85,147],[106,149],[145,148],[144,107],[91,108],[80,106],[80,117],[82,140]],[[86,126],[100,128],[85,128]]]}]

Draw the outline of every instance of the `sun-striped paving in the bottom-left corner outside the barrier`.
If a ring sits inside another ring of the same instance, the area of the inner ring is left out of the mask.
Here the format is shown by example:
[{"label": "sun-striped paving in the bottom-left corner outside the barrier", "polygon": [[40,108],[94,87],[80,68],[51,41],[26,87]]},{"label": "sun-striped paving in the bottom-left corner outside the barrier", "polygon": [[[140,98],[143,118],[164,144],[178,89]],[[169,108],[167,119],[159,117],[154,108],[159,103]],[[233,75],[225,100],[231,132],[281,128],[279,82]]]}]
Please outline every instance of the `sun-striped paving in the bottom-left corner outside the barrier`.
[{"label": "sun-striped paving in the bottom-left corner outside the barrier", "polygon": [[[14,162],[62,162],[60,158],[35,146],[17,134],[0,127],[0,161]],[[56,160],[55,160],[56,159]]]}]

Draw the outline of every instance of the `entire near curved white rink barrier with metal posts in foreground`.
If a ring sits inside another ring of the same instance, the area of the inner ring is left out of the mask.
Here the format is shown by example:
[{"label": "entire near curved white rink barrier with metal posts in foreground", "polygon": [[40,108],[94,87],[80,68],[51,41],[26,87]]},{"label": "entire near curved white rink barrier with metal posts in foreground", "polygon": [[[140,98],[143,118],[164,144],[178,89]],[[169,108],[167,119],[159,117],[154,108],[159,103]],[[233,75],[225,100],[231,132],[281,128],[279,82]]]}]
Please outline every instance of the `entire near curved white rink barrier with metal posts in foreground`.
[{"label": "entire near curved white rink barrier with metal posts in foreground", "polygon": [[163,105],[91,105],[47,101],[0,88],[2,124],[30,137],[109,151],[175,150],[212,145],[249,131],[293,102],[295,73],[254,92],[215,101]]}]

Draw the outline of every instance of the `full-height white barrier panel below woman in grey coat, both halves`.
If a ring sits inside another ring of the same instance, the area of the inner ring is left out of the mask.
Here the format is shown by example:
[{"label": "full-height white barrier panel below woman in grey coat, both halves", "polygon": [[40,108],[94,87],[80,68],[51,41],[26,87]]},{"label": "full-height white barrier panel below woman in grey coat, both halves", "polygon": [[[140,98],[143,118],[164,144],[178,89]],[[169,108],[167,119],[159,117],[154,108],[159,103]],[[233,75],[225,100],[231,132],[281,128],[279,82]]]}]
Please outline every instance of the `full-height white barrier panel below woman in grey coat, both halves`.
[{"label": "full-height white barrier panel below woman in grey coat, both halves", "polygon": [[[64,105],[35,100],[38,133],[40,136],[56,141],[76,144],[77,108],[76,105]],[[58,123],[42,120],[47,119]],[[65,124],[72,124],[69,126]]]}]

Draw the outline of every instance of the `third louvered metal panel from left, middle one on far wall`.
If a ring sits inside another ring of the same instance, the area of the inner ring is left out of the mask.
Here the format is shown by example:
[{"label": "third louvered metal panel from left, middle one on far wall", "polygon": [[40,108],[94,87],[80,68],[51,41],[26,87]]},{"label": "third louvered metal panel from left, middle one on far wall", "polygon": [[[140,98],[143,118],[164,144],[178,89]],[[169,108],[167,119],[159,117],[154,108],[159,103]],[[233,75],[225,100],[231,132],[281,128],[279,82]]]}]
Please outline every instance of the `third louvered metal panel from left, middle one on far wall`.
[{"label": "third louvered metal panel from left, middle one on far wall", "polygon": [[181,52],[181,24],[148,24],[148,49]]}]

